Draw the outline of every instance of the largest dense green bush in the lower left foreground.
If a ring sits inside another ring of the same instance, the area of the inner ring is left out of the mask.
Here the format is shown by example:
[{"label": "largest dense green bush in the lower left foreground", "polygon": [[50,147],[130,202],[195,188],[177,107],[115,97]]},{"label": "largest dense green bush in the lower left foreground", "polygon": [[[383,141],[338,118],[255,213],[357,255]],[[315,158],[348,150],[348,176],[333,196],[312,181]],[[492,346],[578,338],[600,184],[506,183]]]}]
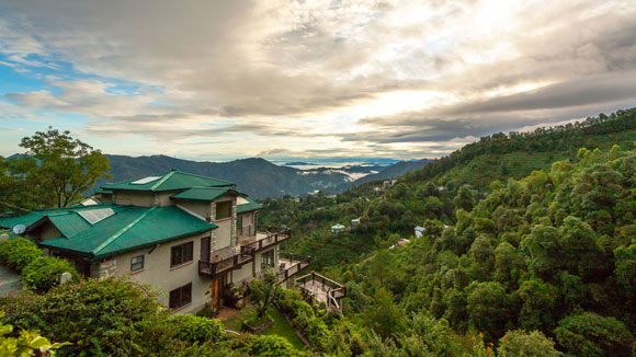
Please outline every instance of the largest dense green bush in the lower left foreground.
[{"label": "largest dense green bush in the lower left foreground", "polygon": [[[4,323],[68,341],[59,356],[155,356],[172,344],[168,311],[122,279],[87,279],[0,300]],[[168,338],[167,338],[168,336]]]}]

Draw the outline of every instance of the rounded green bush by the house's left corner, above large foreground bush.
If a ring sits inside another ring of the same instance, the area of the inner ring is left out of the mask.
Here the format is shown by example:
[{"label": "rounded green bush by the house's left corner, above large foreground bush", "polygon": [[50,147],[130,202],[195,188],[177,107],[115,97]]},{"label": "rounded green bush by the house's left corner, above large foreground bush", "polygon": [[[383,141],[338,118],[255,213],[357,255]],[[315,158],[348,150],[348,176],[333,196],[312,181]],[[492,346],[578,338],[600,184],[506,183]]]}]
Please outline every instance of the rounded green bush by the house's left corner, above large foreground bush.
[{"label": "rounded green bush by the house's left corner, above large foreground bush", "polygon": [[44,293],[59,285],[63,273],[70,273],[72,279],[79,278],[75,266],[63,258],[41,256],[22,269],[20,277],[29,290]]}]

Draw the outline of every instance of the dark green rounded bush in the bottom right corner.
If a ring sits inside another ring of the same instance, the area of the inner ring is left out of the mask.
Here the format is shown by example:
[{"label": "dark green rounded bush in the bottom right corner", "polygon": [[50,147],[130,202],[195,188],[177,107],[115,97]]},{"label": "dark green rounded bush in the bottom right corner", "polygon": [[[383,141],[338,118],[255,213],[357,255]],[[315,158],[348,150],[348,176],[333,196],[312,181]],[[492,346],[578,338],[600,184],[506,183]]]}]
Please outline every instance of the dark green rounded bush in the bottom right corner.
[{"label": "dark green rounded bush in the bottom right corner", "polygon": [[569,315],[555,330],[567,356],[631,357],[634,337],[621,321],[593,312]]}]

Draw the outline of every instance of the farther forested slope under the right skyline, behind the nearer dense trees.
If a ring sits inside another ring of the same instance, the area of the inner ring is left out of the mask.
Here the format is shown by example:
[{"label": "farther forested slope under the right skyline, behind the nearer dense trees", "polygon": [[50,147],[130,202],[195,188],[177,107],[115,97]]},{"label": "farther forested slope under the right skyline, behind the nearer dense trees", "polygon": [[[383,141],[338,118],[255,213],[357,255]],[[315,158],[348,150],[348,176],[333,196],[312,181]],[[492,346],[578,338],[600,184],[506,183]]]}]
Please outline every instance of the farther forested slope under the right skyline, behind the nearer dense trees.
[{"label": "farther forested slope under the right skyline, behind the nearer dense trees", "polygon": [[[496,134],[407,173],[388,189],[372,182],[334,199],[315,195],[300,203],[289,197],[264,200],[263,223],[292,227],[299,239],[289,249],[315,256],[317,267],[352,262],[409,238],[416,226],[434,220],[454,224],[456,208],[472,208],[496,180],[506,184],[549,169],[557,160],[575,162],[583,147],[609,150],[618,145],[629,150],[635,141],[636,110],[533,133]],[[356,218],[361,223],[355,229],[330,232],[331,226],[349,226]]]}]

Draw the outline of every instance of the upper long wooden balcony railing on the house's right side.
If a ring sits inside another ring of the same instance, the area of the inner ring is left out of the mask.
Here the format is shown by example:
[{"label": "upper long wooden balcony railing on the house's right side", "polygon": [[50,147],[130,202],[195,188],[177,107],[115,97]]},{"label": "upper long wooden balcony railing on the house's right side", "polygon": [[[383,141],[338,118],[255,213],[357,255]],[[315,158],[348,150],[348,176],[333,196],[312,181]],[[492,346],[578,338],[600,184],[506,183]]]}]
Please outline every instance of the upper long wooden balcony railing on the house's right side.
[{"label": "upper long wooden balcony railing on the house's right side", "polygon": [[292,237],[292,231],[289,229],[282,229],[276,232],[272,231],[273,229],[264,233],[258,233],[257,240],[249,244],[241,245],[240,253],[238,254],[234,254],[217,262],[198,261],[198,274],[215,277],[222,273],[238,269],[245,264],[251,263],[258,252],[280,244]]}]

